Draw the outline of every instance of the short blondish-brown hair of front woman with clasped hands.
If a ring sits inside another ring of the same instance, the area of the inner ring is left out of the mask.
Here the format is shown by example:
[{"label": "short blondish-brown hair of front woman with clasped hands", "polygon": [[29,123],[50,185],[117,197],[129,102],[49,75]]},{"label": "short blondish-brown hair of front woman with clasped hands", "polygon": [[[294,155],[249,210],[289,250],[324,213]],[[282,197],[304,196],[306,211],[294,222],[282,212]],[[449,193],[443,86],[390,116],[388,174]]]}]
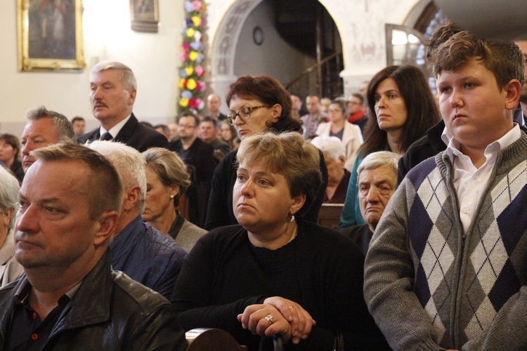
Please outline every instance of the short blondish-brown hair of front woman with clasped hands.
[{"label": "short blondish-brown hair of front woman with clasped hands", "polygon": [[247,137],[240,144],[236,159],[238,165],[263,162],[269,170],[285,177],[291,197],[306,194],[306,202],[295,216],[306,213],[322,184],[318,149],[296,132]]}]

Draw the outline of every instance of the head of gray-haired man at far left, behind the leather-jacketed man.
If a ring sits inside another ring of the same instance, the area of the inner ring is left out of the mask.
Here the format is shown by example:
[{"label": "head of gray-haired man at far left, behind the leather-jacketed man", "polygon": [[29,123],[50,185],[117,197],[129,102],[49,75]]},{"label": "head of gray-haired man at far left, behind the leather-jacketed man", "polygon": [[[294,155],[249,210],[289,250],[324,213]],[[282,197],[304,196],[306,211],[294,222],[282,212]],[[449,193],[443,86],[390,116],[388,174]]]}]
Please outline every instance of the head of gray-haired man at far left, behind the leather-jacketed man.
[{"label": "head of gray-haired man at far left, behind the leather-jacketed man", "polygon": [[30,152],[40,147],[73,141],[75,138],[71,122],[63,114],[46,110],[44,106],[27,111],[25,117],[27,124],[20,138],[24,173],[34,162]]}]

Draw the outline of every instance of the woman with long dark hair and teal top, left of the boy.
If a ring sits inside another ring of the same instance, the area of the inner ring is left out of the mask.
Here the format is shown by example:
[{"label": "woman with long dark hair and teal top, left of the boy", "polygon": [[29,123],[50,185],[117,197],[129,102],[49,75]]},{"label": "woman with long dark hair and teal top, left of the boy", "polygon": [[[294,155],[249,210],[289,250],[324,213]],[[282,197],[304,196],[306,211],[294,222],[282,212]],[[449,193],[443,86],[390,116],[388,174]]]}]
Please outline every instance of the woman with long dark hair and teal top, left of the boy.
[{"label": "woman with long dark hair and teal top, left of the boy", "polygon": [[340,228],[364,224],[358,205],[357,168],[368,154],[391,151],[403,155],[415,140],[441,120],[434,96],[421,69],[389,66],[371,79],[367,89],[370,118],[353,164],[340,216]]}]

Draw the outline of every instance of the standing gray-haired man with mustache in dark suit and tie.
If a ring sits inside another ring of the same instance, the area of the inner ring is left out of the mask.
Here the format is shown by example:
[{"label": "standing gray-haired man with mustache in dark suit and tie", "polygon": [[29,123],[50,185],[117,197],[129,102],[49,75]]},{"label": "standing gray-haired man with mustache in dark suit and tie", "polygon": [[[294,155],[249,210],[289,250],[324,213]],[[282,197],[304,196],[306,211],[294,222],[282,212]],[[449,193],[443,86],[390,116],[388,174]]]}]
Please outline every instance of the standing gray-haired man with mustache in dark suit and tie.
[{"label": "standing gray-haired man with mustache in dark suit and tie", "polygon": [[130,67],[120,62],[102,61],[90,72],[90,102],[100,127],[79,136],[77,142],[112,140],[139,152],[150,147],[167,147],[161,133],[139,123],[132,107],[136,100],[136,78]]}]

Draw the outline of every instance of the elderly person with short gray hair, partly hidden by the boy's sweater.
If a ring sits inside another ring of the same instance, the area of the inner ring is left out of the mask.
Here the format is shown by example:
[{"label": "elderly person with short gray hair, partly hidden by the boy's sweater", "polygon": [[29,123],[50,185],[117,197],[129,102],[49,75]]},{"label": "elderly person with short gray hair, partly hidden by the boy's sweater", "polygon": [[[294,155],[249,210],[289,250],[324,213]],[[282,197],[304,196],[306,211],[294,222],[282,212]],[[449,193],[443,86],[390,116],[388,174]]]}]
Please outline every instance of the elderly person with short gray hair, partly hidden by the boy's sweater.
[{"label": "elderly person with short gray hair, partly hidden by the boy's sweater", "polygon": [[358,204],[366,221],[363,225],[342,228],[364,254],[384,208],[396,190],[397,167],[401,156],[389,151],[372,152],[358,166]]}]

